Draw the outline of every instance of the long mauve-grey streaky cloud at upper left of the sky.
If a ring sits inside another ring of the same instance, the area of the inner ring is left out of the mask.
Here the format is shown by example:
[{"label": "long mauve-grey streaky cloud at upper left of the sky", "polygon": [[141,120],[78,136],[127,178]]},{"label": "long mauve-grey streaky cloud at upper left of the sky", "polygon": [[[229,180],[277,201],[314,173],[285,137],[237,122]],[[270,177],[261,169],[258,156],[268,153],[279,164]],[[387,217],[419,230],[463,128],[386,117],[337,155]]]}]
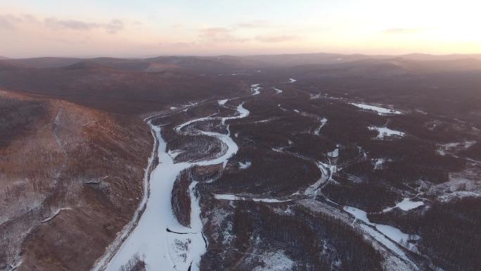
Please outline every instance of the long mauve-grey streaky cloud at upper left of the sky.
[{"label": "long mauve-grey streaky cloud at upper left of the sky", "polygon": [[94,29],[103,29],[110,34],[115,34],[124,29],[122,20],[113,19],[108,23],[91,23],[82,20],[60,20],[57,18],[46,18],[44,24],[53,29],[69,29],[89,31]]}]

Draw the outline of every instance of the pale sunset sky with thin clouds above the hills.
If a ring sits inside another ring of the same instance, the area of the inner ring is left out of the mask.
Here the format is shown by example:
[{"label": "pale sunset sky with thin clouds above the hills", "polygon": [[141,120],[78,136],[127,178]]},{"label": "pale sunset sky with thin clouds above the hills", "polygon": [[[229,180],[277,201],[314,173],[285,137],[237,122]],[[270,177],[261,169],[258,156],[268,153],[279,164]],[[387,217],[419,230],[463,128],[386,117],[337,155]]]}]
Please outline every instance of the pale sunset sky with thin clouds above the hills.
[{"label": "pale sunset sky with thin clouds above the hills", "polygon": [[0,0],[0,56],[481,53],[474,0]]}]

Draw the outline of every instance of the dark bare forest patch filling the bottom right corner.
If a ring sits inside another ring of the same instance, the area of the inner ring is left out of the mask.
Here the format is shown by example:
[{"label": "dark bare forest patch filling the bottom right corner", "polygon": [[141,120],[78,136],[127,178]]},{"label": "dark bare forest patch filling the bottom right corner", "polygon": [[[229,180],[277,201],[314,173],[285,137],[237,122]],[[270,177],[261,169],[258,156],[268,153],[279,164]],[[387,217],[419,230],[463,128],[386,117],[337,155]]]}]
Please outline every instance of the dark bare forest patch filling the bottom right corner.
[{"label": "dark bare forest patch filling the bottom right corner", "polygon": [[373,222],[418,234],[421,253],[447,271],[477,271],[481,266],[481,198],[434,203],[425,213],[370,214]]}]

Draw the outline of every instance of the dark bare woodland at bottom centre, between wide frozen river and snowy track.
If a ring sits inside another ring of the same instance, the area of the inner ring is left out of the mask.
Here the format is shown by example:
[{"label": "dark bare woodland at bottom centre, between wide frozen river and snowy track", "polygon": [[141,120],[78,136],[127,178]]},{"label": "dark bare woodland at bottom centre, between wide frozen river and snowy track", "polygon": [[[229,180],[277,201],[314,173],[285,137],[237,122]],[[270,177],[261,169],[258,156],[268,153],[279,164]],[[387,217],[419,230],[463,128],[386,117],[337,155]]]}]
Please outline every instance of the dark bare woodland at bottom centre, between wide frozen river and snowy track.
[{"label": "dark bare woodland at bottom centre, between wide frozen river and snowy track", "polygon": [[301,207],[294,212],[279,215],[262,203],[238,203],[233,227],[236,251],[248,253],[252,246],[261,251],[282,249],[295,260],[294,270],[382,270],[382,256],[349,225]]}]

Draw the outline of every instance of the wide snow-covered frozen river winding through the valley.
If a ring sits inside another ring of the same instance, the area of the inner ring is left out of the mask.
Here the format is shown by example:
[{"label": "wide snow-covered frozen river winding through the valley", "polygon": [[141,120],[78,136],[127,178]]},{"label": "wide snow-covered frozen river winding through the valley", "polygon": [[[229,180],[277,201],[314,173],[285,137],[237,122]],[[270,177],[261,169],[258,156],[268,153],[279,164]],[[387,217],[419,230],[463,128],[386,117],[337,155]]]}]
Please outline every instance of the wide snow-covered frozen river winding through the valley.
[{"label": "wide snow-covered frozen river winding through the valley", "polygon": [[[219,101],[219,105],[223,106],[225,103],[226,100]],[[237,114],[234,116],[189,120],[177,126],[175,130],[181,134],[182,128],[193,122],[222,120],[222,123],[225,123],[226,120],[245,118],[249,114],[249,111],[243,108],[243,103],[239,104],[236,109]],[[150,196],[148,196],[146,210],[122,246],[116,253],[113,252],[115,256],[111,258],[110,262],[107,257],[104,257],[94,270],[103,270],[106,265],[105,270],[118,271],[130,258],[139,254],[145,261],[147,270],[195,271],[199,270],[200,257],[207,250],[207,243],[202,232],[203,224],[200,220],[199,201],[195,196],[196,183],[193,182],[189,187],[191,191],[191,227],[180,225],[175,218],[172,212],[171,191],[175,179],[186,168],[193,165],[216,165],[219,163],[225,167],[229,158],[238,151],[237,144],[231,139],[229,125],[227,126],[228,134],[196,131],[198,134],[217,137],[227,148],[217,158],[195,163],[174,163],[172,153],[166,152],[167,144],[162,139],[160,127],[153,125],[151,127],[159,141],[159,164],[150,175]],[[128,233],[122,235],[124,234]]]}]

